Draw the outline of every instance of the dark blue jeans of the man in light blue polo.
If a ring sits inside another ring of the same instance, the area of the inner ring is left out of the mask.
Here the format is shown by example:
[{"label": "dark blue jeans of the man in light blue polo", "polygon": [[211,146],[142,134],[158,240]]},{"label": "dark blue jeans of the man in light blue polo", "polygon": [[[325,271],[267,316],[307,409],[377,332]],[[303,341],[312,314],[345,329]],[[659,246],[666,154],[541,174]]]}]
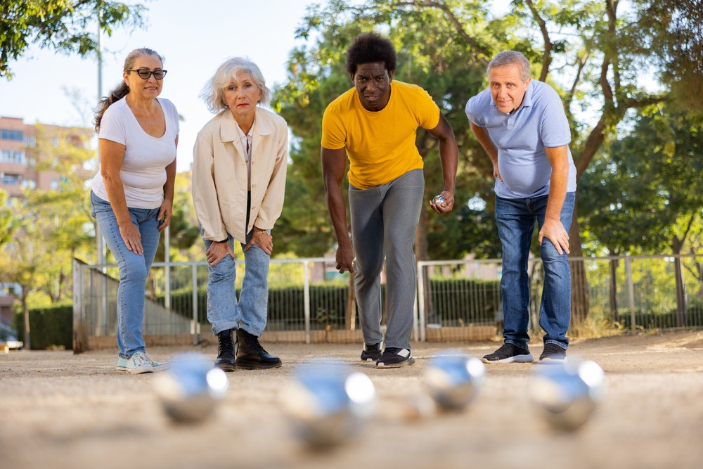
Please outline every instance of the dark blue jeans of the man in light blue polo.
[{"label": "dark blue jeans of the man in light blue polo", "polygon": [[[496,196],[498,236],[503,243],[503,338],[506,343],[527,347],[529,341],[529,274],[527,259],[534,233],[544,224],[547,195],[536,198],[505,199]],[[569,231],[574,213],[576,194],[569,192],[564,200],[560,220]],[[539,326],[544,330],[544,343],[554,343],[563,349],[569,346],[566,336],[571,320],[571,271],[567,253],[559,254],[550,240],[540,246],[544,268],[544,285]]]}]

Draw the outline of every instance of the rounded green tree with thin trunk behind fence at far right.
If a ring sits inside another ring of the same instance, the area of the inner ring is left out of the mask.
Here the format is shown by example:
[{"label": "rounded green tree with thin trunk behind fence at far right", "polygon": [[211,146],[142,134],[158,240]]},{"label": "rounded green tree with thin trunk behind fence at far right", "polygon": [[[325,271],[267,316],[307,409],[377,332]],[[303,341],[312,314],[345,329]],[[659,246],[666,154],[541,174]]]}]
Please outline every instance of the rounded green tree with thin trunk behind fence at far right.
[{"label": "rounded green tree with thin trunk behind fence at far right", "polygon": [[[632,131],[607,146],[584,174],[584,233],[612,255],[676,255],[678,325],[686,309],[681,255],[703,225],[703,120],[651,108]],[[617,304],[611,304],[616,310]]]}]

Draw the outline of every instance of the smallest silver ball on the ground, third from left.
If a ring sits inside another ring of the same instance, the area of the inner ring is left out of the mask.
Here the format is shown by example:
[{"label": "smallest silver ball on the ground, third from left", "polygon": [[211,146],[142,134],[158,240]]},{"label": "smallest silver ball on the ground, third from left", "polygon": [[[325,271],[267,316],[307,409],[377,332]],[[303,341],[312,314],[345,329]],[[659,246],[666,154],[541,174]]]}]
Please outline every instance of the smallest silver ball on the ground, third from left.
[{"label": "smallest silver ball on the ground, third from left", "polygon": [[475,356],[446,350],[432,356],[424,373],[425,387],[439,408],[460,411],[477,396],[486,367]]}]

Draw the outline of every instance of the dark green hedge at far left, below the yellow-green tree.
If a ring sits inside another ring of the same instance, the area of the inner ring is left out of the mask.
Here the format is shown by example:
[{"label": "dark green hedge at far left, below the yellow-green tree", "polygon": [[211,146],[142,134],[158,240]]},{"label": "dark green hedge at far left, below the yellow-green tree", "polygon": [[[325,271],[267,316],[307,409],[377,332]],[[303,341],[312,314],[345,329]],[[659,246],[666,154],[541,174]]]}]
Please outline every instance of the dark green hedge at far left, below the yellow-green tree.
[{"label": "dark green hedge at far left, below the yellow-green tree", "polygon": [[[23,314],[15,314],[15,330],[18,340],[25,338]],[[32,350],[52,347],[73,348],[73,306],[30,309],[30,345]]]}]

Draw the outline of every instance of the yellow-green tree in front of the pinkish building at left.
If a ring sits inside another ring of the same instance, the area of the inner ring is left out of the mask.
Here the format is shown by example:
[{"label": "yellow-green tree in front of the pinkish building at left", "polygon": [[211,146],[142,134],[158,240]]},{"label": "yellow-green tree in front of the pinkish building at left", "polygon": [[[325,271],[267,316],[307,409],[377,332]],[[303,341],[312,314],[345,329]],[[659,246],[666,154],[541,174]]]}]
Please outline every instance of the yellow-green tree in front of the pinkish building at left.
[{"label": "yellow-green tree in front of the pinkish building at left", "polygon": [[42,174],[58,178],[58,189],[26,189],[12,204],[13,236],[1,246],[0,279],[21,287],[20,306],[25,319],[25,346],[30,347],[30,295],[43,293],[51,302],[69,297],[72,258],[87,256],[93,247],[94,227],[89,214],[84,169],[95,158],[89,145],[90,129],[57,133],[37,124],[37,146],[25,148],[27,160]]}]

